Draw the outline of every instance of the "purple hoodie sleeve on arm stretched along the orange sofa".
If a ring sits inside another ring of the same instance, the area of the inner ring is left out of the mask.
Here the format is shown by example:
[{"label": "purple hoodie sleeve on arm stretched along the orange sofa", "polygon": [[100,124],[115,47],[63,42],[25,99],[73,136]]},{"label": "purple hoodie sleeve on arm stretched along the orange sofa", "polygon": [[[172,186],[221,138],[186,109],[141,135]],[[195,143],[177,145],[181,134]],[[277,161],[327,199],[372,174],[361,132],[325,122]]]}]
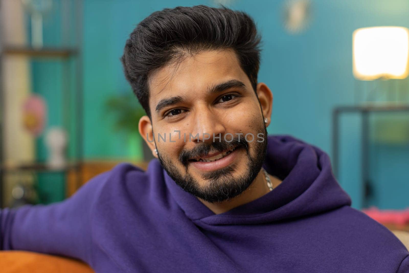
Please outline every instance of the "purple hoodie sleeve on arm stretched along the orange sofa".
[{"label": "purple hoodie sleeve on arm stretched along the orange sofa", "polygon": [[0,210],[0,248],[63,255],[91,264],[92,210],[108,172],[51,205]]}]

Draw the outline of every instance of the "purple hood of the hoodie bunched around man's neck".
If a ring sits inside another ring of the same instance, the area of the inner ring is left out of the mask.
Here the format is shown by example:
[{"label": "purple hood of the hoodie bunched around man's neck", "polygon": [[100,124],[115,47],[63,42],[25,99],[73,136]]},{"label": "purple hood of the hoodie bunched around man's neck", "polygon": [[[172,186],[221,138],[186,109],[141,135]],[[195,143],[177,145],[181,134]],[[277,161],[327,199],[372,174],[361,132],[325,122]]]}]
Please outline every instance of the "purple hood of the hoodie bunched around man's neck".
[{"label": "purple hood of the hoodie bunched around man's neck", "polygon": [[351,205],[324,151],[290,135],[270,135],[267,141],[263,167],[282,183],[252,202],[215,214],[163,170],[166,186],[189,219],[207,225],[271,223]]}]

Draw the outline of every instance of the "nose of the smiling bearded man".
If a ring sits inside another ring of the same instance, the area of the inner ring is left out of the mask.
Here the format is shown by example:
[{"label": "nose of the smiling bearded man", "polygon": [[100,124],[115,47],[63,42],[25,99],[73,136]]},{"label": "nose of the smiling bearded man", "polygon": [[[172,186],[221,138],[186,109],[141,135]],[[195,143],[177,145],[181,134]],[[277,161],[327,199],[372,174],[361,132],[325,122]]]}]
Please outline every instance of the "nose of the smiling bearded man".
[{"label": "nose of the smiling bearded man", "polygon": [[196,108],[191,131],[192,142],[213,142],[220,141],[225,134],[225,126],[222,124],[222,117],[211,111],[207,106]]}]

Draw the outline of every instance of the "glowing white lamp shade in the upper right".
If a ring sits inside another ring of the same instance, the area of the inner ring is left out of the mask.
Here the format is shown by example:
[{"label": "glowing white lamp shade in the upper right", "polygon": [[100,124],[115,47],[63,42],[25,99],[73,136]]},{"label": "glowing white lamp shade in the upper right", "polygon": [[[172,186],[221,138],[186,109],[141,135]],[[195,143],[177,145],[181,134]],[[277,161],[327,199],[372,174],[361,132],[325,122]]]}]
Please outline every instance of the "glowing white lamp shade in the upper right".
[{"label": "glowing white lamp shade in the upper right", "polygon": [[360,80],[408,76],[409,30],[366,27],[353,32],[353,74]]}]

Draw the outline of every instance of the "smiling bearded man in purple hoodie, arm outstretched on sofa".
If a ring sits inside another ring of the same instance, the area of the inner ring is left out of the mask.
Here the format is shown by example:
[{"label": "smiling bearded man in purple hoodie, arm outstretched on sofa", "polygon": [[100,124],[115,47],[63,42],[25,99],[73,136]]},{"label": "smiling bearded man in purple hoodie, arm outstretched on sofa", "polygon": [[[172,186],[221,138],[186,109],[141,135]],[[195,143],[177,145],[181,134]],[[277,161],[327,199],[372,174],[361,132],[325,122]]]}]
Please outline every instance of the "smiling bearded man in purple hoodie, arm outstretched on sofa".
[{"label": "smiling bearded man in purple hoodie, arm outstretched on sofa", "polygon": [[242,12],[148,16],[122,62],[158,160],[119,164],[74,196],[5,209],[2,247],[66,255],[97,272],[408,272],[408,251],[350,207],[328,155],[267,138],[273,95]]}]

